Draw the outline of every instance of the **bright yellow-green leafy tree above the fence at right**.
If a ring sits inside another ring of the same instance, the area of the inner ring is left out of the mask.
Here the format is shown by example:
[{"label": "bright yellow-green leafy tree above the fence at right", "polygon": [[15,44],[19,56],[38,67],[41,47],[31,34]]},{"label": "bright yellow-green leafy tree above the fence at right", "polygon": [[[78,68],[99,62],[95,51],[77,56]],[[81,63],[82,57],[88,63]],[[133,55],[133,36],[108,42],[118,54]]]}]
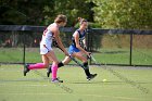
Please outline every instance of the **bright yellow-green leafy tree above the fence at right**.
[{"label": "bright yellow-green leafy tree above the fence at right", "polygon": [[152,28],[152,0],[92,0],[102,28]]}]

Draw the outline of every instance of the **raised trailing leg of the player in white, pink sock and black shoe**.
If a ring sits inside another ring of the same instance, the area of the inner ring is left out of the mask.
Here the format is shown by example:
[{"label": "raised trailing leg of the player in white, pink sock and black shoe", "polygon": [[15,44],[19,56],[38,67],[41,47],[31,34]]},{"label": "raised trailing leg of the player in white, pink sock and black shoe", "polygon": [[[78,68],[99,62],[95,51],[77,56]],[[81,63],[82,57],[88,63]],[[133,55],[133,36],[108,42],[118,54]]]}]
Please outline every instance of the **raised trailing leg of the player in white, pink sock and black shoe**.
[{"label": "raised trailing leg of the player in white, pink sock and black shoe", "polygon": [[49,67],[49,59],[46,54],[41,55],[43,63],[36,63],[36,64],[26,64],[24,67],[24,76],[30,71],[30,70],[40,70]]}]

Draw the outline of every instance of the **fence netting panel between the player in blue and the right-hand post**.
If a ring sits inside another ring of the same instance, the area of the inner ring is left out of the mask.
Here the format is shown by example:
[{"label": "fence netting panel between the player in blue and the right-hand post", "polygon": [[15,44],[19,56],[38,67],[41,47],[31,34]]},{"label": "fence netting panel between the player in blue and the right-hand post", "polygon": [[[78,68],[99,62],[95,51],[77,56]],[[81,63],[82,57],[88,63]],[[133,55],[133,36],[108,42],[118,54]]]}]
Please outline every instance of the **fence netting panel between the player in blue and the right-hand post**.
[{"label": "fence netting panel between the player in blue and the right-hand post", "polygon": [[101,64],[129,64],[130,36],[90,33],[90,50]]}]

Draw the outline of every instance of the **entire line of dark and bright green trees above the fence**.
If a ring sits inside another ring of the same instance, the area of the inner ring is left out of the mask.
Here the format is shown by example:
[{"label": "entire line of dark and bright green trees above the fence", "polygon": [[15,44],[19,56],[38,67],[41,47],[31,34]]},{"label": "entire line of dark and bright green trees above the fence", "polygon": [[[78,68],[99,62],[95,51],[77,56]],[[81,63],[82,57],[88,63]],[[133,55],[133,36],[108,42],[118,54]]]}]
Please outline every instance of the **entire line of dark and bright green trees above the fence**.
[{"label": "entire line of dark and bright green trees above the fence", "polygon": [[1,0],[0,24],[49,25],[58,14],[100,28],[152,28],[152,0]]}]

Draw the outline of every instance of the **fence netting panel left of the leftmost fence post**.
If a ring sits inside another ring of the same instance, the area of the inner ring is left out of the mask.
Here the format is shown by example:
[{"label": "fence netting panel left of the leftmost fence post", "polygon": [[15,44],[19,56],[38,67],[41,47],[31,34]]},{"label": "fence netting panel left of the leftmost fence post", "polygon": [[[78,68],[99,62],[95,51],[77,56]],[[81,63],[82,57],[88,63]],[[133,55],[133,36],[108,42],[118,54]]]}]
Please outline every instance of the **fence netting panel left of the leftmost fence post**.
[{"label": "fence netting panel left of the leftmost fence post", "polygon": [[0,31],[0,62],[23,63],[23,31]]}]

